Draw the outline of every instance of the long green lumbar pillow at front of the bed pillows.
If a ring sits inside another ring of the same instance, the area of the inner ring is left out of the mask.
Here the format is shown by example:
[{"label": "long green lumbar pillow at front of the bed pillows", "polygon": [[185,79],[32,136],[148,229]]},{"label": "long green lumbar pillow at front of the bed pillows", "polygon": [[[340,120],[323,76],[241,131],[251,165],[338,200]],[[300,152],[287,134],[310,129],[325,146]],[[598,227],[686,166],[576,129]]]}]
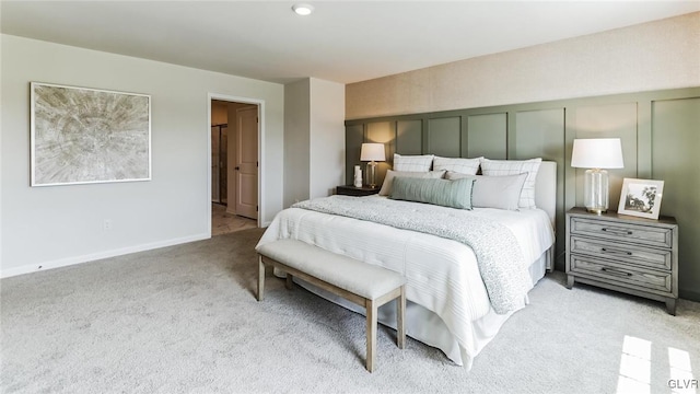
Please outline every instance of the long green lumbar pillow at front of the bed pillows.
[{"label": "long green lumbar pillow at front of the bed pillows", "polygon": [[474,179],[430,179],[397,176],[389,198],[471,209]]}]

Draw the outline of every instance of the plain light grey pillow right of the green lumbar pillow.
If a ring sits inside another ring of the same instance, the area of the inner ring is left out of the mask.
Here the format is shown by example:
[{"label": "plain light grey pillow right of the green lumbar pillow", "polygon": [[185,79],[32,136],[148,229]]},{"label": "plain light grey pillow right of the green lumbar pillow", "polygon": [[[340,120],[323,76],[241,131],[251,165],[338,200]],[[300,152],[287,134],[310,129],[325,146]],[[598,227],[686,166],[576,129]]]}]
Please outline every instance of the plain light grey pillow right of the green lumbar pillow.
[{"label": "plain light grey pillow right of the green lumbar pillow", "polygon": [[467,175],[448,171],[447,179],[475,179],[471,206],[475,208],[498,208],[516,210],[527,173],[518,175],[486,176]]}]

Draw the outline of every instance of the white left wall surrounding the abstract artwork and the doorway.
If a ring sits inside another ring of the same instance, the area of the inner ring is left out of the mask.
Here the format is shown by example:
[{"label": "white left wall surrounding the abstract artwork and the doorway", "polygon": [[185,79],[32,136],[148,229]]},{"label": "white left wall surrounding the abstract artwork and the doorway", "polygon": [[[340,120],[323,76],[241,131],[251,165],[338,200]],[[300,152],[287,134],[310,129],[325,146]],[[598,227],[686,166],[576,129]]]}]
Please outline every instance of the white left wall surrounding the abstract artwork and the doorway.
[{"label": "white left wall surrounding the abstract artwork and the doorway", "polygon": [[[0,275],[208,237],[209,93],[264,101],[262,222],[282,208],[283,85],[9,35],[0,50]],[[150,94],[152,181],[30,187],[31,81]]]}]

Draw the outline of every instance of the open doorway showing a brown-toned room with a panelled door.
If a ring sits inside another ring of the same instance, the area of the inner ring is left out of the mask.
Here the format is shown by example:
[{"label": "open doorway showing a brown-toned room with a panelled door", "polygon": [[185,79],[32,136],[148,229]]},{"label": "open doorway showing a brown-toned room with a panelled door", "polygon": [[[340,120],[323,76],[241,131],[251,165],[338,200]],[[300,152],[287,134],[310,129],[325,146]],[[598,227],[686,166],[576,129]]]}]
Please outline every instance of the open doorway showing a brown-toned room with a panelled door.
[{"label": "open doorway showing a brown-toned room with a panelled door", "polygon": [[211,235],[258,227],[260,105],[210,97]]}]

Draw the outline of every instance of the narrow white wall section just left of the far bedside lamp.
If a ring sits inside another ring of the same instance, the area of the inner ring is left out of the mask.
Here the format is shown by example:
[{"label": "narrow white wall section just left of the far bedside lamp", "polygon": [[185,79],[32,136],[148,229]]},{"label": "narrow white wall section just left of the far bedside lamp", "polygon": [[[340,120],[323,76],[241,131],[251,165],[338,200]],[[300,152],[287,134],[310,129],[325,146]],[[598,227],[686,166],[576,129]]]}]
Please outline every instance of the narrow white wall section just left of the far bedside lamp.
[{"label": "narrow white wall section just left of the far bedside lamp", "polygon": [[310,197],[335,193],[346,177],[346,86],[311,79]]}]

